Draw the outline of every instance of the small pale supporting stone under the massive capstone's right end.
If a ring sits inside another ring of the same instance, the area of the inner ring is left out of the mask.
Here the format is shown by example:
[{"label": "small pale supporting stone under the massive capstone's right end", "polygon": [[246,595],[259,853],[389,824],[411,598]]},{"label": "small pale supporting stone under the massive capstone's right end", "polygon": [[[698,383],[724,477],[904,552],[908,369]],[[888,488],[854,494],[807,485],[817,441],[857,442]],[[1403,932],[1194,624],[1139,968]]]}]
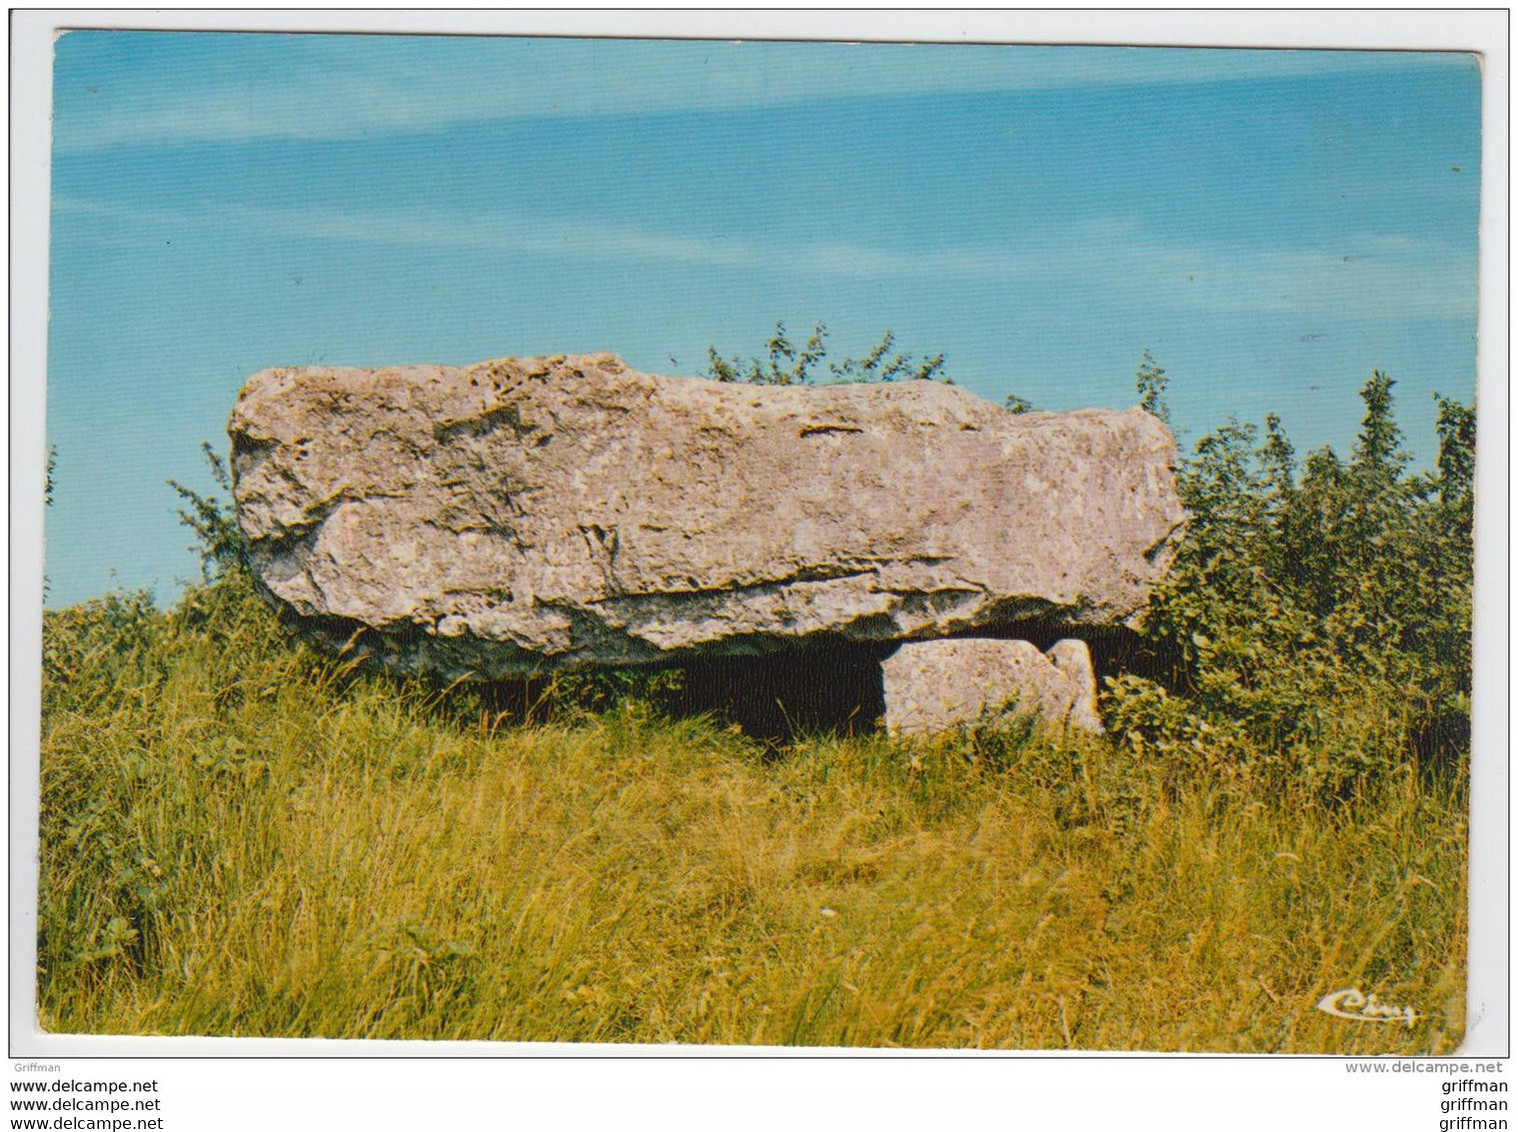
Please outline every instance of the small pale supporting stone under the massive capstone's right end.
[{"label": "small pale supporting stone under the massive capstone's right end", "polygon": [[1047,652],[1028,640],[917,640],[887,657],[880,671],[891,733],[994,725],[1006,709],[1102,731],[1084,640],[1060,640]]}]

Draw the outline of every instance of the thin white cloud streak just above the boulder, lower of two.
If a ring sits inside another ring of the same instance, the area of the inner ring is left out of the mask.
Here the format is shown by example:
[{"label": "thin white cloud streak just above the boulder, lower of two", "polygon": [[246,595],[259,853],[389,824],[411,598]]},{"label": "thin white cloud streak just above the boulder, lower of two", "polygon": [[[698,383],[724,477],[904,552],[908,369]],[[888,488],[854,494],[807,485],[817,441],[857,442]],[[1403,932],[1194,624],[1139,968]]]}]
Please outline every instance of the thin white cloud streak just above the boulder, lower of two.
[{"label": "thin white cloud streak just above the boulder, lower of two", "polygon": [[1104,300],[1195,311],[1322,317],[1459,319],[1475,314],[1475,264],[1457,247],[1409,237],[1354,237],[1334,249],[1160,243],[1131,225],[1090,223],[1028,246],[921,252],[850,243],[771,244],[657,232],[594,220],[422,215],[317,209],[134,209],[59,199],[65,214],[159,228],[222,228],[313,241],[469,249],[571,259],[625,259],[792,276],[934,278],[965,287],[1085,288]]}]

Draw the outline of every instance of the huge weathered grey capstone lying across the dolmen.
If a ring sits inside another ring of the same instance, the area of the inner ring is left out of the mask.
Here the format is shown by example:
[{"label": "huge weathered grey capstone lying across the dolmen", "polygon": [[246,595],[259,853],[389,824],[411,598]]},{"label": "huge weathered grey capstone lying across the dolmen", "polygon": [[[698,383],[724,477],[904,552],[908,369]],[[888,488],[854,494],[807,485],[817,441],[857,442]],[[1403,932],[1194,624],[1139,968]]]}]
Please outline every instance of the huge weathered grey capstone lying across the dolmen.
[{"label": "huge weathered grey capstone lying across the dolmen", "polygon": [[481,678],[1123,624],[1184,519],[1146,413],[937,382],[272,369],[228,431],[270,595],[329,643]]}]

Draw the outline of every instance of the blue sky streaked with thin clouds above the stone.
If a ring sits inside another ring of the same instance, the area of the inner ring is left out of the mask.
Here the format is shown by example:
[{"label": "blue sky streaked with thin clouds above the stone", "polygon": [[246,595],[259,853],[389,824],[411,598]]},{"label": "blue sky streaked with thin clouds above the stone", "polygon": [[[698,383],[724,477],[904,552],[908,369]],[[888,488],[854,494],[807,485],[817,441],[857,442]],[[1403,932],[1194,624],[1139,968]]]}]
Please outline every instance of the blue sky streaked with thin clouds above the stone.
[{"label": "blue sky streaked with thin clouds above the stone", "polygon": [[56,44],[50,604],[196,572],[266,366],[609,349],[695,373],[777,319],[1183,443],[1278,413],[1409,443],[1475,382],[1472,56],[74,32]]}]

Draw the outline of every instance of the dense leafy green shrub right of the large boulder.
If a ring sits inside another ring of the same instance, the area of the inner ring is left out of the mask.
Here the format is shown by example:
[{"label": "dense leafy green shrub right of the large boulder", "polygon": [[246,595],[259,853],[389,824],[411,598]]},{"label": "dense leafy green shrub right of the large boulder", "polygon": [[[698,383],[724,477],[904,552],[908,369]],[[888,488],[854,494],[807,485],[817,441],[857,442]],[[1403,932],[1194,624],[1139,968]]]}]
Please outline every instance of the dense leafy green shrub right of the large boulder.
[{"label": "dense leafy green shrub right of the large boulder", "polygon": [[[1160,372],[1138,373],[1163,410]],[[1190,525],[1137,674],[1108,680],[1113,730],[1175,757],[1251,760],[1342,795],[1468,742],[1474,410],[1439,399],[1436,470],[1409,475],[1392,379],[1360,390],[1348,461],[1298,473],[1280,419],[1230,420],[1181,461]],[[1158,390],[1158,391],[1157,391]]]}]

